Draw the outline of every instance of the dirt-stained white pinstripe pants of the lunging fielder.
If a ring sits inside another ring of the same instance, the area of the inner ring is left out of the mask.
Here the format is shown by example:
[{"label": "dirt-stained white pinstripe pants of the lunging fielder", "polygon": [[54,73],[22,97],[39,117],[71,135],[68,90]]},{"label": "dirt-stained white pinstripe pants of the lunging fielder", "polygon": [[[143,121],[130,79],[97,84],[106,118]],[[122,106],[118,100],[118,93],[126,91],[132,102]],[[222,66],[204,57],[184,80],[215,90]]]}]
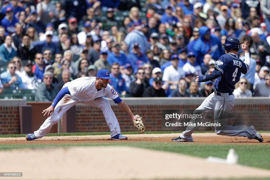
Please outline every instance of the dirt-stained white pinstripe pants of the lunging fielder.
[{"label": "dirt-stained white pinstripe pants of the lunging fielder", "polygon": [[47,135],[50,132],[50,129],[52,128],[52,126],[61,119],[63,114],[67,110],[69,110],[69,108],[71,108],[72,106],[78,103],[97,107],[102,110],[105,120],[107,122],[107,125],[110,128],[111,137],[121,132],[117,118],[115,114],[113,113],[113,110],[110,106],[109,101],[106,98],[102,97],[95,101],[78,101],[71,95],[66,94],[56,105],[55,110],[52,113],[52,115],[44,121],[44,123],[40,126],[40,128],[37,131],[34,132],[35,136],[37,138],[42,138],[43,136]]}]

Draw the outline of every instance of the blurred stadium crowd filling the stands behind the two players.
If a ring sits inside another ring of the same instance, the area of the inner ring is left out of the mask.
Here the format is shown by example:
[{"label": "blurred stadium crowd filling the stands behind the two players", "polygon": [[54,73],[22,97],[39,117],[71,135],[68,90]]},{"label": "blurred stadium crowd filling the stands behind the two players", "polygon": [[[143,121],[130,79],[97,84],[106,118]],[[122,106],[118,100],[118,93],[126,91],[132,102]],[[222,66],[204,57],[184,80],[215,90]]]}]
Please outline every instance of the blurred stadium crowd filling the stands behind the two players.
[{"label": "blurred stadium crowd filling the stands behind the two players", "polygon": [[121,97],[207,97],[213,82],[195,77],[214,70],[233,36],[251,57],[234,96],[269,97],[269,9],[269,0],[1,1],[0,94],[53,101],[66,82],[104,68]]}]

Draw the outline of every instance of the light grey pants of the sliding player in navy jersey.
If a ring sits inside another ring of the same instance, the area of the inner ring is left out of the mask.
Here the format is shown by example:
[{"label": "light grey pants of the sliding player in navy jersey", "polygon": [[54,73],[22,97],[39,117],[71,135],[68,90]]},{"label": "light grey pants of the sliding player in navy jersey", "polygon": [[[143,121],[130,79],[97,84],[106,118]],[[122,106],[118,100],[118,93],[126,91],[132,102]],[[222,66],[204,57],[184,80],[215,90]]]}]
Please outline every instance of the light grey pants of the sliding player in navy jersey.
[{"label": "light grey pants of the sliding player in navy jersey", "polygon": [[[235,104],[234,96],[228,95],[228,93],[221,93],[222,96],[218,96],[213,92],[210,94],[196,110],[215,110],[214,111],[214,123],[221,123],[221,127],[215,127],[215,133],[224,136],[242,136],[250,139],[255,138],[254,130],[251,130],[245,125],[227,125],[228,114],[232,110]],[[196,110],[194,111],[196,113]],[[191,120],[192,123],[194,120]],[[192,127],[188,127],[180,137],[184,140],[193,140],[192,133],[195,130],[191,130]]]}]

